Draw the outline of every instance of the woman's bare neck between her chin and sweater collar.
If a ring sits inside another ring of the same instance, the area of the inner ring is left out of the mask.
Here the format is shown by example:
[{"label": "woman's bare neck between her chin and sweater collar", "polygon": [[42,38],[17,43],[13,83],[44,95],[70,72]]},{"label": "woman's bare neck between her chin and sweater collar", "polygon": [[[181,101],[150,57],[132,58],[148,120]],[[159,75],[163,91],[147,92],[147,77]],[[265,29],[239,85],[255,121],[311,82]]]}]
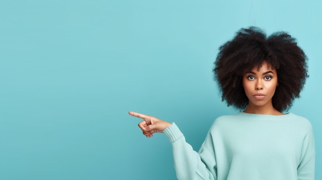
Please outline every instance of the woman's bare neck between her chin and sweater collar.
[{"label": "woman's bare neck between her chin and sweater collar", "polygon": [[244,110],[246,113],[252,114],[267,114],[267,115],[283,115],[283,113],[276,110],[273,105],[268,104],[264,106],[256,106],[254,104],[249,104],[247,108]]}]

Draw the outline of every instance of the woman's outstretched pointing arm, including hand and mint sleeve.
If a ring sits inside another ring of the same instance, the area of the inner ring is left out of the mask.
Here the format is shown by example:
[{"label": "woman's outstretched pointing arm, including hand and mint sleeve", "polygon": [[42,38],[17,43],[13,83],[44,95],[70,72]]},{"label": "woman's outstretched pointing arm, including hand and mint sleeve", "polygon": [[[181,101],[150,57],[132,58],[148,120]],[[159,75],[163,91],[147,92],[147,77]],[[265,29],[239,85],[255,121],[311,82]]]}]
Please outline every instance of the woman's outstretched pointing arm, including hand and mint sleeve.
[{"label": "woman's outstretched pointing arm, including hand and mint sleeve", "polygon": [[171,124],[153,116],[131,111],[129,114],[144,119],[138,126],[147,137],[151,137],[155,132],[164,132],[169,137],[178,179],[217,179],[214,152],[206,148],[206,146],[212,146],[210,145],[212,141],[206,139],[198,153],[186,142],[183,133],[175,123]]}]

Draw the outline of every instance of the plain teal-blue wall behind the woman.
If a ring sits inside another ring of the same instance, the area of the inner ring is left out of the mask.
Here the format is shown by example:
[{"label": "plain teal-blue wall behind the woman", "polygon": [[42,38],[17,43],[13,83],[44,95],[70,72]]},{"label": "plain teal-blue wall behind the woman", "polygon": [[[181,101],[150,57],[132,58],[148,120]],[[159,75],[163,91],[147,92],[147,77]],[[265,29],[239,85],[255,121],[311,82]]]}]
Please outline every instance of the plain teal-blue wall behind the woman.
[{"label": "plain teal-blue wall behind the woman", "polygon": [[284,30],[309,57],[290,112],[307,117],[322,179],[321,1],[0,1],[0,179],[176,179],[164,134],[199,150],[213,120],[236,111],[212,79],[218,47],[259,26]]}]

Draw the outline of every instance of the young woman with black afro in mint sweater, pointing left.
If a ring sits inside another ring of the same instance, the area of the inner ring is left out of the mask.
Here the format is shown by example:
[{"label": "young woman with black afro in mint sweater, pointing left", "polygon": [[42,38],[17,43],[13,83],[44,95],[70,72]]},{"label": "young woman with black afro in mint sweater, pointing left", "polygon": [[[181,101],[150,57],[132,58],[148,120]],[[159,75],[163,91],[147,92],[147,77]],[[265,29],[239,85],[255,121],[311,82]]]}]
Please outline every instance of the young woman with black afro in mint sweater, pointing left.
[{"label": "young woman with black afro in mint sweater, pointing left", "polygon": [[217,118],[198,153],[175,123],[130,111],[144,119],[138,124],[143,134],[169,137],[178,179],[314,179],[312,126],[283,113],[308,77],[307,57],[296,39],[285,32],[266,37],[251,27],[219,50],[213,71],[222,101],[242,112]]}]

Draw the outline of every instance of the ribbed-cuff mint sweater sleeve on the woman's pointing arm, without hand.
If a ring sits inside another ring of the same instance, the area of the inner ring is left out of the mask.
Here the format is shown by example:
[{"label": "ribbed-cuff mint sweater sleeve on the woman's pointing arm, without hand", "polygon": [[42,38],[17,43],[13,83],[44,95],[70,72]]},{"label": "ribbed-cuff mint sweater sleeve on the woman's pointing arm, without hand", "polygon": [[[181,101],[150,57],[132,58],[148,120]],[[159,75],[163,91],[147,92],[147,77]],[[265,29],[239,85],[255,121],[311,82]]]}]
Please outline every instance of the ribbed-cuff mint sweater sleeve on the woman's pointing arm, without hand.
[{"label": "ribbed-cuff mint sweater sleeve on the woman's pointing arm, without hand", "polygon": [[180,129],[172,123],[164,133],[172,144],[174,168],[178,179],[217,179],[216,158],[204,145],[199,153],[186,142]]}]

